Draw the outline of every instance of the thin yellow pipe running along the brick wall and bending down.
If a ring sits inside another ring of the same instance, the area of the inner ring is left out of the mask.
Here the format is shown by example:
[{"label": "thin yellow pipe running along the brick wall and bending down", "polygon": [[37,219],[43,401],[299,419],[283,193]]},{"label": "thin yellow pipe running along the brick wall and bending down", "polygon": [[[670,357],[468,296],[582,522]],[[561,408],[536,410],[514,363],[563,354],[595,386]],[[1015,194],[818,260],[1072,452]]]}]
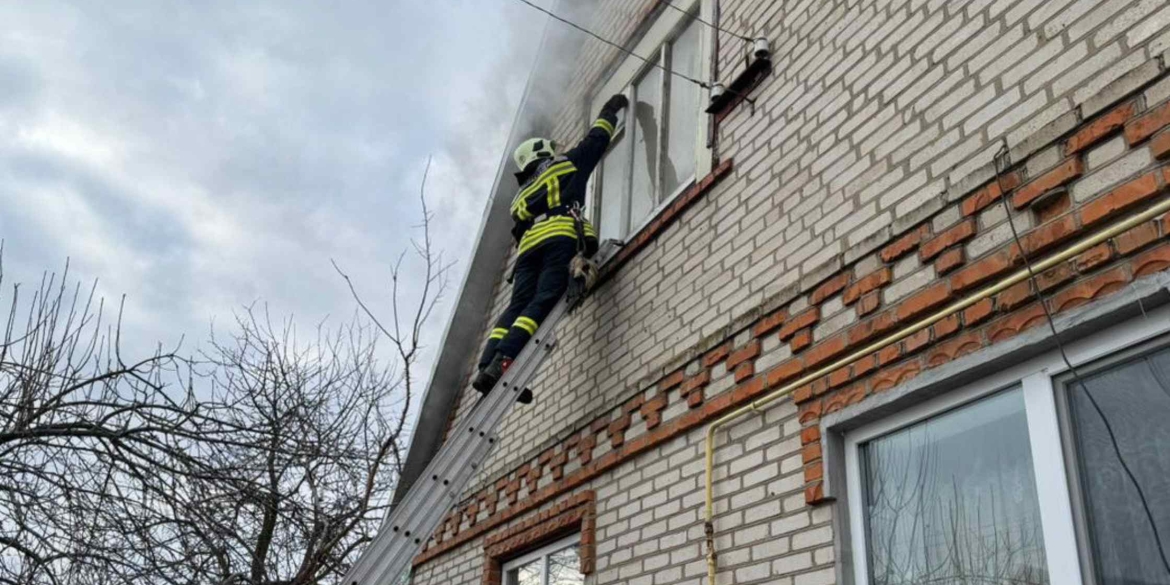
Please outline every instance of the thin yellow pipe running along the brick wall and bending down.
[{"label": "thin yellow pipe running along the brick wall and bending down", "polygon": [[1097,232],[1096,234],[1093,234],[1092,236],[1086,238],[1085,240],[1081,240],[1080,242],[1076,242],[1076,243],[1069,246],[1068,248],[1065,248],[1064,250],[1061,250],[1061,252],[1059,252],[1059,253],[1057,253],[1057,254],[1054,254],[1052,256],[1048,256],[1047,259],[1041,260],[1040,262],[1037,262],[1037,263],[1032,264],[1031,273],[1028,271],[1027,268],[1018,270],[1014,274],[1012,274],[1011,276],[1007,276],[1006,278],[1004,278],[1004,280],[1002,280],[1002,281],[999,281],[999,282],[997,282],[994,284],[987,285],[984,289],[982,289],[982,290],[972,294],[971,296],[968,296],[966,298],[963,298],[962,301],[957,301],[954,304],[951,304],[951,305],[942,309],[941,311],[938,311],[938,312],[936,312],[934,315],[930,315],[929,317],[925,317],[925,318],[918,321],[917,323],[914,323],[914,324],[911,324],[911,325],[909,325],[909,326],[907,326],[904,329],[901,329],[901,330],[899,330],[899,331],[896,331],[896,332],[894,332],[894,333],[892,333],[892,335],[889,335],[889,336],[887,336],[887,337],[885,337],[882,339],[879,339],[878,342],[874,342],[874,343],[872,343],[869,345],[866,345],[865,347],[862,347],[862,349],[860,349],[858,351],[854,351],[853,353],[849,353],[848,356],[845,356],[845,357],[838,359],[837,362],[833,362],[833,363],[831,363],[831,364],[828,364],[828,365],[826,365],[826,366],[824,366],[824,367],[821,367],[819,370],[815,370],[812,373],[805,374],[803,378],[800,378],[800,379],[798,379],[796,381],[789,383],[787,385],[780,387],[779,390],[777,390],[775,392],[771,392],[771,393],[769,393],[769,394],[766,394],[766,395],[764,395],[764,397],[762,397],[762,398],[759,398],[757,400],[752,400],[748,405],[741,406],[739,408],[736,408],[735,411],[731,411],[730,413],[724,414],[723,417],[718,418],[717,420],[715,420],[714,422],[711,422],[710,425],[708,425],[707,426],[707,445],[706,445],[706,448],[707,448],[707,476],[706,476],[706,481],[707,481],[707,484],[706,484],[706,487],[707,487],[707,504],[706,504],[706,516],[704,516],[706,519],[703,522],[703,531],[707,535],[707,578],[708,578],[708,584],[710,584],[710,585],[715,584],[715,572],[716,572],[716,570],[718,567],[717,560],[716,560],[717,559],[717,553],[715,551],[715,479],[714,479],[714,475],[715,475],[715,433],[716,433],[716,431],[718,431],[721,427],[725,426],[727,424],[729,424],[729,422],[731,422],[731,421],[734,421],[734,420],[736,420],[736,419],[738,419],[738,418],[741,418],[741,417],[743,417],[745,414],[753,413],[753,412],[760,412],[762,410],[766,408],[772,402],[776,402],[780,398],[787,395],[793,390],[799,388],[800,386],[804,386],[805,384],[812,383],[813,380],[817,380],[818,378],[820,378],[823,376],[827,376],[828,373],[831,373],[831,372],[833,372],[835,370],[845,367],[845,366],[847,366],[847,365],[849,365],[849,364],[852,364],[852,363],[854,363],[854,362],[856,362],[856,360],[859,360],[859,359],[861,359],[861,358],[863,358],[863,357],[866,357],[866,356],[868,356],[868,355],[870,355],[870,353],[873,353],[875,351],[881,350],[882,347],[886,347],[887,345],[890,345],[893,343],[897,343],[897,342],[900,342],[900,340],[902,340],[902,339],[904,339],[904,338],[907,338],[907,337],[909,337],[909,336],[911,336],[911,335],[914,335],[914,333],[916,333],[918,331],[922,331],[923,329],[925,329],[925,328],[928,328],[928,326],[930,326],[930,325],[932,325],[932,324],[935,324],[935,323],[937,323],[937,322],[940,322],[940,321],[942,321],[942,319],[944,319],[944,318],[947,318],[947,317],[949,317],[949,316],[951,316],[951,315],[954,315],[954,314],[956,314],[956,312],[958,312],[958,311],[961,311],[963,309],[966,309],[968,307],[971,307],[975,303],[977,303],[977,302],[979,302],[979,301],[982,301],[984,298],[987,298],[987,297],[990,297],[990,296],[992,296],[992,295],[994,295],[997,292],[1000,292],[1000,291],[1007,289],[1009,287],[1012,287],[1013,284],[1024,282],[1025,280],[1027,280],[1031,276],[1031,274],[1040,274],[1040,273],[1042,273],[1042,271],[1045,271],[1045,270],[1047,270],[1047,269],[1049,269],[1052,267],[1055,267],[1055,266],[1058,266],[1058,264],[1060,264],[1060,263],[1062,263],[1065,261],[1068,261],[1069,259],[1076,256],[1078,254],[1080,254],[1080,253],[1082,253],[1082,252],[1085,252],[1085,250],[1087,250],[1087,249],[1089,249],[1089,248],[1092,248],[1092,247],[1094,247],[1094,246],[1096,246],[1096,245],[1099,245],[1101,242],[1104,242],[1104,241],[1107,241],[1107,240],[1109,240],[1109,239],[1112,239],[1112,238],[1114,238],[1116,235],[1120,235],[1120,234],[1122,234],[1122,233],[1124,233],[1124,232],[1127,232],[1127,230],[1129,230],[1129,229],[1131,229],[1134,227],[1137,227],[1138,225],[1141,225],[1141,223],[1143,223],[1145,221],[1149,221],[1149,220],[1151,220],[1154,218],[1157,218],[1158,215],[1161,215],[1163,213],[1166,213],[1166,212],[1170,212],[1170,199],[1166,199],[1166,200],[1164,200],[1164,201],[1155,205],[1154,207],[1150,207],[1149,209],[1147,209],[1147,211],[1144,211],[1144,212],[1142,212],[1142,213],[1140,213],[1137,215],[1134,215],[1134,216],[1131,216],[1129,219],[1126,219],[1126,220],[1122,220],[1122,221],[1117,221],[1117,222],[1110,225],[1109,227],[1107,227],[1107,228]]}]

